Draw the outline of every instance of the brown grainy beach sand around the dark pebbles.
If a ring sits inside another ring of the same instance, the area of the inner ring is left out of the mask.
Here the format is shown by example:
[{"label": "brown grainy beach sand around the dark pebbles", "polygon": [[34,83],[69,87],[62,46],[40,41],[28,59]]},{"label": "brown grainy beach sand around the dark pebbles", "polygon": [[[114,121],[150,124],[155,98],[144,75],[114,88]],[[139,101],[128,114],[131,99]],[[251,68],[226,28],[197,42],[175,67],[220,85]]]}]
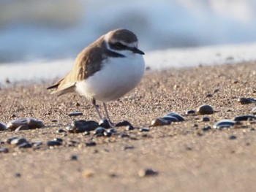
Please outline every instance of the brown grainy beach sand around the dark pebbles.
[{"label": "brown grainy beach sand around the dark pebbles", "polygon": [[[47,126],[0,132],[1,141],[13,136],[42,141],[38,149],[1,144],[9,153],[0,153],[0,191],[255,191],[256,120],[244,121],[241,128],[202,128],[252,115],[256,104],[237,100],[256,98],[256,63],[146,72],[135,91],[108,104],[113,122],[129,120],[148,127],[167,112],[178,112],[186,120],[148,132],[121,127],[111,137],[57,134],[72,120],[97,120],[97,115],[78,95],[50,95],[45,89],[50,84],[11,84],[0,90],[1,122],[31,117]],[[209,93],[213,96],[206,97]],[[210,104],[216,112],[186,115],[201,104]],[[69,117],[72,111],[83,115]],[[205,116],[209,122],[201,121]],[[121,137],[124,134],[129,137]],[[232,135],[236,139],[229,139]],[[46,143],[55,137],[64,144],[50,149]],[[86,147],[91,140],[97,145]],[[140,177],[141,169],[157,174]]]}]

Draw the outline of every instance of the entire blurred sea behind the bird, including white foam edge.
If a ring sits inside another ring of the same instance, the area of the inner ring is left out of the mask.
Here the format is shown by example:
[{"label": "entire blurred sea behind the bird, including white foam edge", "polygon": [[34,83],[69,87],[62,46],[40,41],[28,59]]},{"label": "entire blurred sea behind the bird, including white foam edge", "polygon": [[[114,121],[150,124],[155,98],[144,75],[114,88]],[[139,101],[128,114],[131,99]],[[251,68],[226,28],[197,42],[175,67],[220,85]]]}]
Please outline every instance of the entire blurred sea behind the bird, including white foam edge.
[{"label": "entire blurred sea behind the bird, including white foam edge", "polygon": [[61,76],[113,28],[138,35],[151,69],[252,61],[255,23],[255,0],[0,0],[0,82]]}]

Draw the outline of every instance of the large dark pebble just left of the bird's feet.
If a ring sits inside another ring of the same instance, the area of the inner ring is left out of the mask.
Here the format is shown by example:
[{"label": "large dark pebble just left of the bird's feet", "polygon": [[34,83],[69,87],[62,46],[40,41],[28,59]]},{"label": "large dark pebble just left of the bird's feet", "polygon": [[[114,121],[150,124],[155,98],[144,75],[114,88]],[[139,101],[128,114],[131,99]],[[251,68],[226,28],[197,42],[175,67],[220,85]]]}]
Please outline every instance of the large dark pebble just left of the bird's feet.
[{"label": "large dark pebble just left of the bird's feet", "polygon": [[94,131],[99,126],[94,120],[75,120],[71,125],[66,126],[69,133],[83,133],[85,131]]}]

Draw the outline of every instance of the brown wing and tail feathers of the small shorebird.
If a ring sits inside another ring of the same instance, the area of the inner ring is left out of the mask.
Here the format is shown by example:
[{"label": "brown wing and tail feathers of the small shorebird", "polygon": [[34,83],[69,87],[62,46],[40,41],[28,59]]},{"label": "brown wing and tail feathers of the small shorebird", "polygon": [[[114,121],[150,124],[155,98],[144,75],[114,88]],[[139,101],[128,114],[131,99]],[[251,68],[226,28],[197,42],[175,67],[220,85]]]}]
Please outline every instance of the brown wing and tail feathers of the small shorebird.
[{"label": "brown wing and tail feathers of the small shorebird", "polygon": [[106,57],[101,48],[102,40],[103,38],[100,37],[97,42],[94,42],[81,51],[75,59],[75,65],[72,70],[63,79],[47,89],[53,89],[52,93],[59,93],[58,96],[64,93],[74,92],[76,82],[86,80],[95,72],[99,71],[102,60]]}]

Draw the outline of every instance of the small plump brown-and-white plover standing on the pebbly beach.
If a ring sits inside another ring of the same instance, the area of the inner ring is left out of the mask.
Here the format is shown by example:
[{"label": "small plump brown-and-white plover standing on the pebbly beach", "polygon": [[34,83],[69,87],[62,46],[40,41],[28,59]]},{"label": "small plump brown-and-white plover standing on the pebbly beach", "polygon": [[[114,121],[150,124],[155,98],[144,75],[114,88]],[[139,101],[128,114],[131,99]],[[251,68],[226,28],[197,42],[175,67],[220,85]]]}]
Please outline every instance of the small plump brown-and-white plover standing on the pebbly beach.
[{"label": "small plump brown-and-white plover standing on the pebbly beach", "polygon": [[85,96],[99,119],[102,115],[96,101],[101,101],[110,121],[106,102],[119,99],[138,85],[145,71],[143,55],[132,31],[109,31],[82,50],[72,70],[48,89],[58,96],[70,92]]}]

